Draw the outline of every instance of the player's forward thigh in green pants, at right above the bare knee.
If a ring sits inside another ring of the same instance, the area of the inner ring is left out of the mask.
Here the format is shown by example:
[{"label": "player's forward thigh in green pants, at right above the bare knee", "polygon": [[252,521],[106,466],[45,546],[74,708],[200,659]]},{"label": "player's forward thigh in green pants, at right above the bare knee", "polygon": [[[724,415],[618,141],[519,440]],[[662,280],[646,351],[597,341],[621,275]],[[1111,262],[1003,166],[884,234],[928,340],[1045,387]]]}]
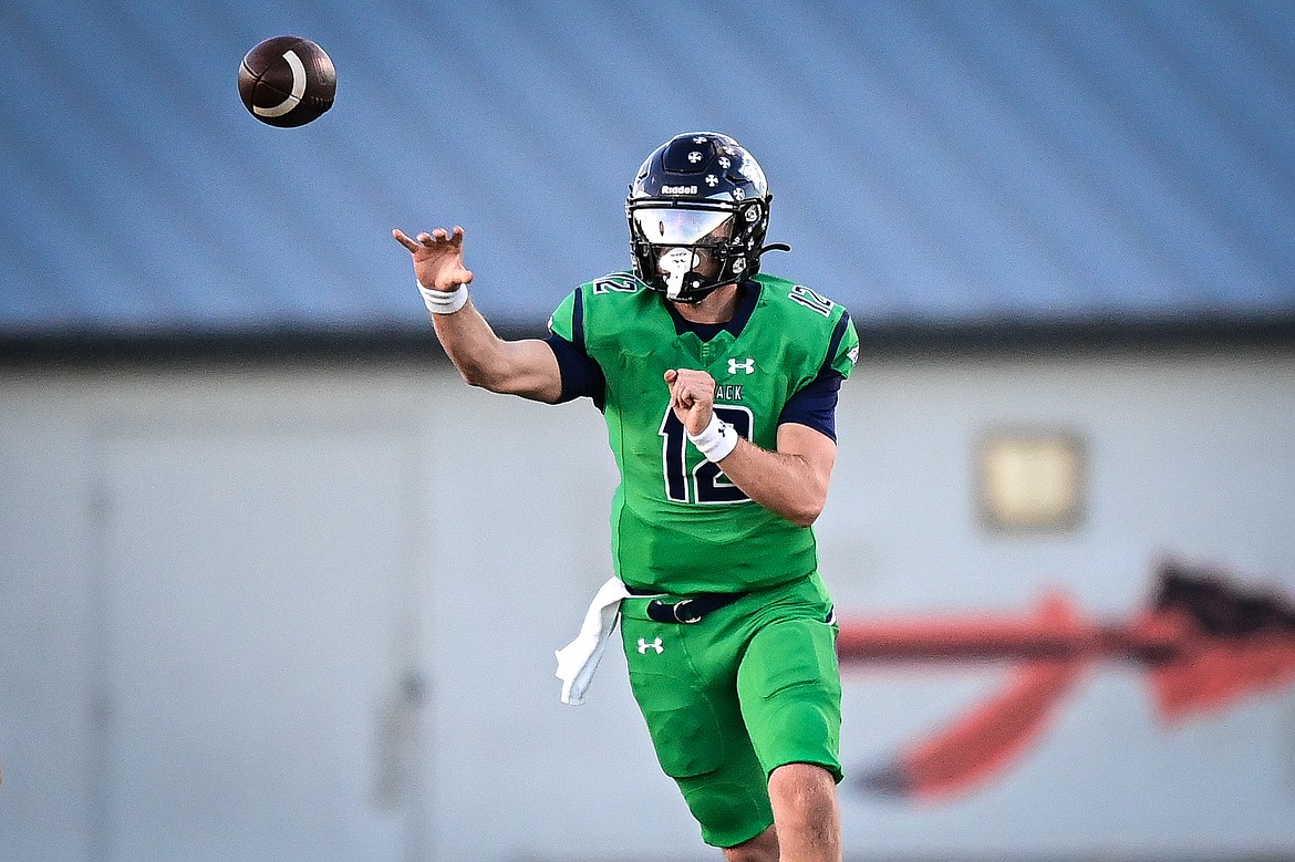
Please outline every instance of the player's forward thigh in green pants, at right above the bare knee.
[{"label": "player's forward thigh in green pants, at right above the bare knee", "polygon": [[738,695],[765,775],[786,764],[817,764],[840,780],[835,625],[794,617],[763,626],[738,669]]}]

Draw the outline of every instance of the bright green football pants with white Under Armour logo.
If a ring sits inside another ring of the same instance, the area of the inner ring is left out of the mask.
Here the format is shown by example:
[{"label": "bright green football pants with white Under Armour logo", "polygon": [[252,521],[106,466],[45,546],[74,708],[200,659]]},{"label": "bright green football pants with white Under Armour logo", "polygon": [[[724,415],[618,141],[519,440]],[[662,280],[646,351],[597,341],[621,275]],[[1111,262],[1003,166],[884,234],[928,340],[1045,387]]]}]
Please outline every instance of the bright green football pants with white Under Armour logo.
[{"label": "bright green football pants with white Under Armour logo", "polygon": [[734,846],[773,823],[778,766],[816,764],[842,779],[837,625],[817,575],[694,624],[653,621],[650,601],[622,602],[629,683],[707,844]]}]

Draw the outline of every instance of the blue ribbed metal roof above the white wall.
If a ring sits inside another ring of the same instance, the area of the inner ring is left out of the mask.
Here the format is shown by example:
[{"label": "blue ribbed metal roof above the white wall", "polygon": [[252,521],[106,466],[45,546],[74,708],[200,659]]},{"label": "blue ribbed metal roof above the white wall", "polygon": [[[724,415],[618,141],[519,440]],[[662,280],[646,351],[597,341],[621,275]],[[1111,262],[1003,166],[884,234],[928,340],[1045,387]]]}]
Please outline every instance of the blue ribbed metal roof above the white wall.
[{"label": "blue ribbed metal roof above the white wall", "polygon": [[[280,34],[338,69],[297,129],[236,92]],[[537,327],[699,128],[769,176],[765,268],[864,324],[1295,316],[1285,1],[19,1],[0,72],[0,338],[422,329],[390,230],[455,223]]]}]

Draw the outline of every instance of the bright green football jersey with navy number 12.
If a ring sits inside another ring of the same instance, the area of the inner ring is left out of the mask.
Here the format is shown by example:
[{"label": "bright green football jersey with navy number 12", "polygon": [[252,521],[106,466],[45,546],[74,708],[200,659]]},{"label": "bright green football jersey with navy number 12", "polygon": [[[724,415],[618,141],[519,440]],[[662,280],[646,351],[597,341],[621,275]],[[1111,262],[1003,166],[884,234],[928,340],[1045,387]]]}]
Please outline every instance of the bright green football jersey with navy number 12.
[{"label": "bright green football jersey with navy number 12", "polygon": [[842,305],[773,276],[754,283],[759,295],[741,331],[725,329],[710,340],[677,331],[664,296],[629,273],[581,285],[549,322],[606,381],[602,412],[620,470],[611,557],[631,586],[728,593],[817,568],[813,531],[743,494],[702,457],[670,409],[666,371],[704,370],[715,378],[720,419],[776,450],[787,400],[825,371],[850,375],[859,337]]}]

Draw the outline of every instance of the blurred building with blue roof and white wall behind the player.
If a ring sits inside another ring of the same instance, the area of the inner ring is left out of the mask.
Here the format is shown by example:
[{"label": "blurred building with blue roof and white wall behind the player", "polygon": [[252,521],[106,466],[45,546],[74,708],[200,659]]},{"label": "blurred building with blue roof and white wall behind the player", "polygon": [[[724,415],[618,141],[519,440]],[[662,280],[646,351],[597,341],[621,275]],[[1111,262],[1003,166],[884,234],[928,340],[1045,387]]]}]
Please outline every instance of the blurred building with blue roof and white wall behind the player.
[{"label": "blurred building with blue roof and white wall behind the player", "polygon": [[[255,122],[255,43],[338,70]],[[1295,6],[0,5],[0,859],[712,859],[609,655],[587,401],[469,390],[721,131],[862,339],[850,859],[1295,858]]]}]

